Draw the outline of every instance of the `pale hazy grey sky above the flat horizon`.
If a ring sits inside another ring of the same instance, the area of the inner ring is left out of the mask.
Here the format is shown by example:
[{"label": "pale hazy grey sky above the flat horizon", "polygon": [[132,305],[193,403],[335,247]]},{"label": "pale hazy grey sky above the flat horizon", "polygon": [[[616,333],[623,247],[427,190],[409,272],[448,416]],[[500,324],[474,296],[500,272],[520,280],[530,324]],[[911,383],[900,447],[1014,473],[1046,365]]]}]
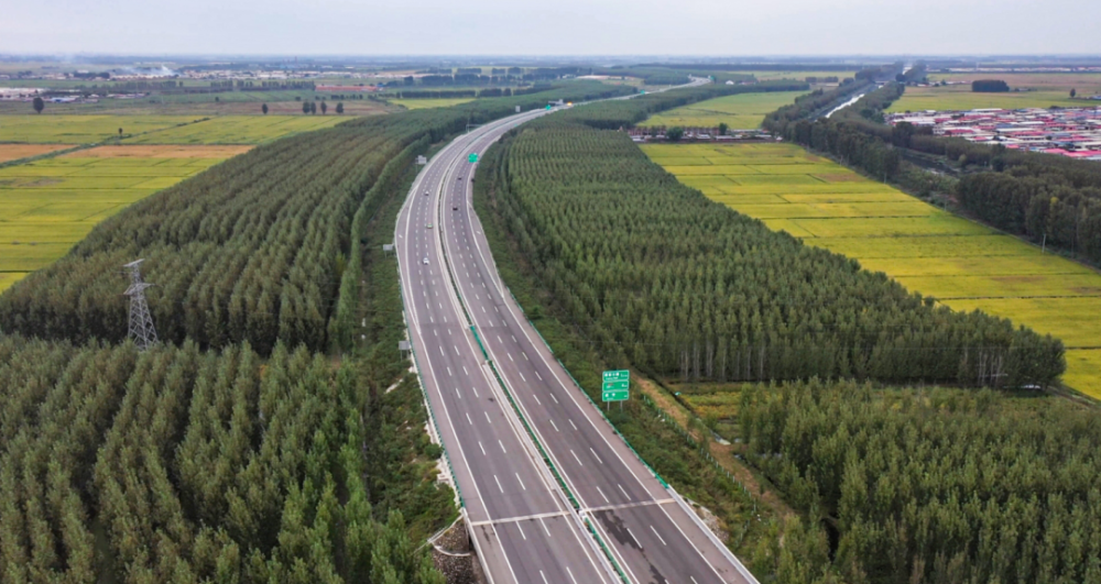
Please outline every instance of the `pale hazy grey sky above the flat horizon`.
[{"label": "pale hazy grey sky above the flat horizon", "polygon": [[14,0],[3,53],[1101,54],[1101,1]]}]

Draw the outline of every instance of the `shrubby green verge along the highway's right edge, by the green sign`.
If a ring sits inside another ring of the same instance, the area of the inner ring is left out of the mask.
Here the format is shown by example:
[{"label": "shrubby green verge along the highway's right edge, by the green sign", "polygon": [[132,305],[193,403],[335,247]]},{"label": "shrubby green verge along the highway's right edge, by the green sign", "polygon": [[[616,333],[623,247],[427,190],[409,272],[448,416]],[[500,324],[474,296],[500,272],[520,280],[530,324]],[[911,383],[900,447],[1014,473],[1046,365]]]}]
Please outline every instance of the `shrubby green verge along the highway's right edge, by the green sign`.
[{"label": "shrubby green verge along the highway's right edge, by the green sign", "polygon": [[[482,220],[502,279],[517,302],[525,307],[526,316],[538,328],[555,355],[592,399],[599,396],[603,360],[579,328],[557,317],[553,298],[537,286],[530,266],[519,253],[516,243],[506,234],[502,218],[495,210],[493,190],[500,180],[504,152],[500,145],[494,145],[486,153],[478,170],[482,180],[475,185],[475,209]],[[766,521],[748,521],[753,518],[753,498],[642,400],[631,400],[623,411],[612,409],[607,417],[665,481],[718,517],[720,527],[739,542],[731,548],[732,551],[740,554],[750,552],[761,536],[768,533]],[[768,510],[761,510],[764,518]]]}]

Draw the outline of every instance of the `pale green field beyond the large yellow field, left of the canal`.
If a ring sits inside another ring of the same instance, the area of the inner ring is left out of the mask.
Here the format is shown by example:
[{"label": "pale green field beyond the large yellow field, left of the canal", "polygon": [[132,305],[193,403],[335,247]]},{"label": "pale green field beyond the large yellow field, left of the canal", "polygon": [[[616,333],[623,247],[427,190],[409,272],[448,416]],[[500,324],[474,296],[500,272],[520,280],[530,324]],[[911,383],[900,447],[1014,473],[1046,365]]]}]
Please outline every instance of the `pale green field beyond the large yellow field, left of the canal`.
[{"label": "pale green field beyond the large yellow field, left of the canal", "polygon": [[738,93],[708,99],[683,106],[651,117],[640,125],[684,125],[689,128],[715,128],[726,122],[735,130],[761,128],[761,122],[770,112],[795,101],[805,91],[771,91],[761,93]]}]

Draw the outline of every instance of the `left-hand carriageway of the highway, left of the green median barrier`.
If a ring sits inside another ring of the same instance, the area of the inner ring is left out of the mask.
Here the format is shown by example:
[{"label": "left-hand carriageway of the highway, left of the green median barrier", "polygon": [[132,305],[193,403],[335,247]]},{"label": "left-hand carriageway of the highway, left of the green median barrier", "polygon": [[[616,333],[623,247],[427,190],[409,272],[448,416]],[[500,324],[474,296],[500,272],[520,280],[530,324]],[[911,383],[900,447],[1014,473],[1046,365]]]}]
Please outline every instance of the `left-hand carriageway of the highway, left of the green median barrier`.
[{"label": "left-hand carriageway of the highway, left of the green median barrier", "polygon": [[[527,117],[456,139],[425,166],[399,216],[395,245],[421,382],[451,461],[471,539],[491,582],[611,583],[611,566],[532,453],[488,371],[444,272],[438,203],[470,143]],[[515,117],[514,117],[515,118]],[[461,167],[459,167],[461,168]]]}]

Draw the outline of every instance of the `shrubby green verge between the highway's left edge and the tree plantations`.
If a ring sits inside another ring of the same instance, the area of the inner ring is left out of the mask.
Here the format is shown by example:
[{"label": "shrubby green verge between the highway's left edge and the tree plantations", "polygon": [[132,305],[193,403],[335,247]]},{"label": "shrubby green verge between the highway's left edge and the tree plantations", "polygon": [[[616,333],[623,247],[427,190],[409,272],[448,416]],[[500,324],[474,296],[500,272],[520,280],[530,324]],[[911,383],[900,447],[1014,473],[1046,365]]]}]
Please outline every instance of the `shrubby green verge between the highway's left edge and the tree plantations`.
[{"label": "shrubby green verge between the highway's left edge and the tree plantations", "polygon": [[345,359],[367,372],[359,399],[371,504],[380,513],[400,509],[413,541],[426,539],[458,515],[450,488],[436,482],[444,452],[424,431],[429,415],[421,387],[397,351],[405,328],[401,285],[395,257],[382,251],[393,239],[404,195],[416,177],[412,162],[428,148],[426,140],[405,148],[364,196],[353,220],[353,253],[341,278],[340,300],[350,321]]}]

